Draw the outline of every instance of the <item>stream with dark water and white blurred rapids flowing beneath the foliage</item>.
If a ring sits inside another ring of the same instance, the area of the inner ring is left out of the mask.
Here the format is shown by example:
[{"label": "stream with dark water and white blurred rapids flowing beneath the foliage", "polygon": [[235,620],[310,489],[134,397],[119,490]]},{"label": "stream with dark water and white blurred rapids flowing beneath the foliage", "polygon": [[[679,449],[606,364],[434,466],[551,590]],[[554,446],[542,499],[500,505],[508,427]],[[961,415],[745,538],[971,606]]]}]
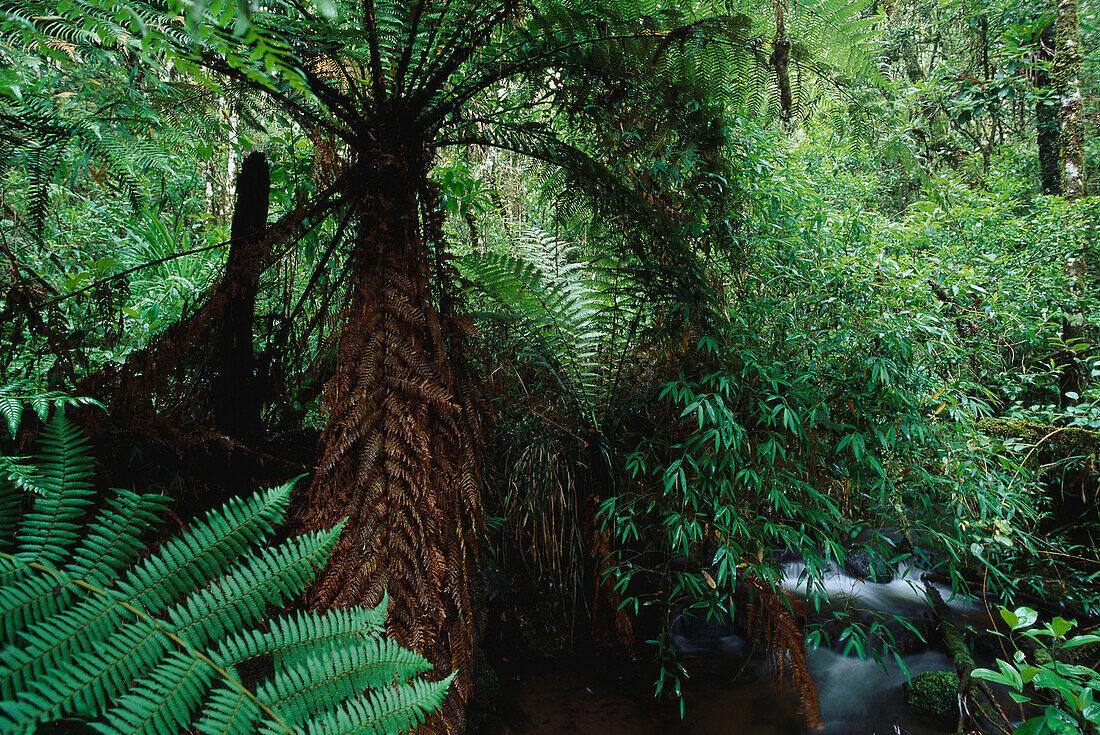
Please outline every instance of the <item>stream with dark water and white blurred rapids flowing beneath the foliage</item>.
[{"label": "stream with dark water and white blurred rapids flowing beneath the foliage", "polygon": [[[804,567],[785,567],[783,586],[801,595]],[[861,581],[833,570],[821,581],[833,610],[878,611],[903,616],[920,629],[932,629],[934,618],[924,601],[921,570],[900,569],[888,583]],[[953,613],[980,618],[985,611],[952,600],[941,588]],[[812,616],[827,613],[812,614]],[[859,613],[857,612],[856,615]],[[904,632],[902,632],[904,633]],[[910,676],[950,670],[950,657],[910,635],[902,655]],[[502,670],[502,700],[496,724],[502,735],[799,735],[802,732],[793,696],[776,691],[761,657],[748,656],[749,646],[736,635],[695,626],[673,629],[673,641],[692,676],[684,688],[684,717],[658,706],[647,679],[624,673],[623,666],[592,660],[566,660],[529,668],[510,662]],[[897,662],[846,656],[821,647],[807,655],[817,685],[826,735],[946,735],[954,723],[923,715],[904,702],[905,673]]]}]

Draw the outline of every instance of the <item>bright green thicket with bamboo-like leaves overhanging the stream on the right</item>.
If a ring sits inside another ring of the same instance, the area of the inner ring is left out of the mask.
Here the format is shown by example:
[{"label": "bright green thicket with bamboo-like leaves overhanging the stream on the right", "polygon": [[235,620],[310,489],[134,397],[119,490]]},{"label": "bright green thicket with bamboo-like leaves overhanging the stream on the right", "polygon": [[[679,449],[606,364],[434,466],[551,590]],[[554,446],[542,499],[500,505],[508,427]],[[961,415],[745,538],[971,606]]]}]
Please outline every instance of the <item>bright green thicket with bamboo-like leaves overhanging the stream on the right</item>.
[{"label": "bright green thicket with bamboo-like leaves overhanging the stream on the right", "polygon": [[[1033,461],[1045,448],[981,424],[1086,416],[1080,404],[1059,407],[1079,396],[1062,395],[1062,369],[1040,355],[1063,347],[1072,304],[1093,310],[1093,292],[1075,297],[1062,262],[1094,246],[1098,210],[1034,197],[1018,163],[994,160],[988,188],[967,184],[971,171],[938,175],[891,216],[876,210],[889,206],[876,201],[881,182],[856,152],[810,138],[787,161],[760,162],[777,172],[756,193],[771,228],[747,235],[728,322],[664,384],[660,405],[679,429],[642,437],[626,464],[639,482],[603,506],[631,606],[728,619],[736,611],[722,590],[745,568],[776,579],[769,551],[781,549],[803,558],[811,603],[827,607],[818,582],[843,566],[848,540],[881,534],[889,544],[861,544],[888,568],[932,567],[963,590],[1094,608],[1094,567],[1064,561],[1071,547],[1049,526]],[[1094,349],[1079,349],[1091,366]],[[1080,468],[1086,451],[1059,461]],[[710,578],[670,572],[671,557]],[[836,629],[809,639],[836,643]],[[871,632],[840,639],[881,656],[862,640]]]}]

